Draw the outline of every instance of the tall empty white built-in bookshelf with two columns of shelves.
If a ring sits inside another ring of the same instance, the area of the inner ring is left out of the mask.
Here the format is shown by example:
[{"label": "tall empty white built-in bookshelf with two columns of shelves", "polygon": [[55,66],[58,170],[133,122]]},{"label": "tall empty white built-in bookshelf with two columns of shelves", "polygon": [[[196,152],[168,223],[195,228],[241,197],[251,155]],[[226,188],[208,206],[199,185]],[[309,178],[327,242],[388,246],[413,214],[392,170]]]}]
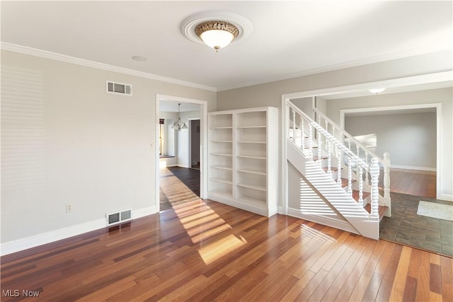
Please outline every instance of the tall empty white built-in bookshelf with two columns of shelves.
[{"label": "tall empty white built-in bookshelf with two columns of shelves", "polygon": [[208,197],[254,213],[277,213],[278,109],[210,112]]}]

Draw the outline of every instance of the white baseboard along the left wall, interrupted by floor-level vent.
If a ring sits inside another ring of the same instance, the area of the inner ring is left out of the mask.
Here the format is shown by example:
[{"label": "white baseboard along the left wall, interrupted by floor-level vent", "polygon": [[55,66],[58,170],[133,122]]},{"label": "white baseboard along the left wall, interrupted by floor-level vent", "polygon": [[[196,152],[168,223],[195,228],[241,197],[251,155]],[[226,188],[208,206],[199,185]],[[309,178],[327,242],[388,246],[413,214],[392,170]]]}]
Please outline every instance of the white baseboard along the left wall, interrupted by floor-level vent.
[{"label": "white baseboard along the left wall, interrupted by floor-level vent", "polygon": [[[132,219],[137,219],[143,216],[155,214],[159,211],[157,207],[147,207],[132,211]],[[39,245],[46,243],[52,243],[57,240],[66,239],[72,236],[81,235],[91,231],[96,231],[100,228],[107,227],[107,221],[105,218],[97,219],[94,221],[88,221],[86,223],[77,224],[76,226],[68,226],[66,228],[60,228],[55,231],[41,233],[38,235],[21,238],[18,240],[9,241],[0,245],[0,255],[8,255],[13,252],[19,252],[21,250],[27,250],[28,248],[35,248]]]}]

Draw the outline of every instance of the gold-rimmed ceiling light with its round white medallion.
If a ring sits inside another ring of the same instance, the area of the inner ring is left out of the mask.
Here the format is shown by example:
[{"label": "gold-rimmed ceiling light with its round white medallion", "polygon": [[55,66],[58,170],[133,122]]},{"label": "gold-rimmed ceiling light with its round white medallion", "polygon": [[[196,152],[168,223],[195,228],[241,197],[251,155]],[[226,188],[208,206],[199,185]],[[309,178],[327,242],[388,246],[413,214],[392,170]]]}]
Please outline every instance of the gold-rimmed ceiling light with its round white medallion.
[{"label": "gold-rimmed ceiling light with its round white medallion", "polygon": [[206,44],[217,52],[222,47],[251,35],[253,25],[236,13],[207,11],[185,19],[180,30],[193,42]]}]

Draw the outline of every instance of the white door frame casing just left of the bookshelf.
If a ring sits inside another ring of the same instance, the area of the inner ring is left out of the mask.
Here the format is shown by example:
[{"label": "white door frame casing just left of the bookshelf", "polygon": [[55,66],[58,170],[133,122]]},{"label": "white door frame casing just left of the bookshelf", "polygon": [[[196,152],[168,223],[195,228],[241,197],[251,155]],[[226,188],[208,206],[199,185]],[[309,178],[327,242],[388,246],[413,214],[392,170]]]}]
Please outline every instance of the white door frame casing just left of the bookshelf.
[{"label": "white door frame casing just left of the bookshelf", "polygon": [[[193,103],[200,105],[200,198],[205,199],[207,197],[207,101],[206,100],[197,100],[194,98],[183,98],[175,95],[165,95],[161,93],[156,93],[156,111],[154,112],[155,120],[155,140],[154,144],[159,146],[159,101],[160,100],[169,100],[178,103]],[[153,143],[151,143],[151,146]],[[160,181],[159,181],[159,148],[154,148],[154,159],[155,159],[155,198],[156,198],[156,207],[158,211],[161,210],[159,191],[160,191]]]}]

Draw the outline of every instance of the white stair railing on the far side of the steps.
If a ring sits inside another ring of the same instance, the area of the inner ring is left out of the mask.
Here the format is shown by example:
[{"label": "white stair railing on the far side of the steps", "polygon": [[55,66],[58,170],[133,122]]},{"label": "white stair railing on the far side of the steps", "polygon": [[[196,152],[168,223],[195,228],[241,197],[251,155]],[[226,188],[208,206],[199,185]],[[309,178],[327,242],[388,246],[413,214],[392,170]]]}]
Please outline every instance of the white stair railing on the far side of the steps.
[{"label": "white stair railing on the far side of the steps", "polygon": [[[332,134],[333,137],[336,137],[338,141],[343,142],[344,146],[348,146],[348,149],[352,150],[351,148],[354,147],[355,152],[358,157],[362,158],[365,163],[368,165],[372,165],[372,158],[377,158],[377,164],[382,165],[384,168],[384,205],[389,207],[387,214],[390,215],[391,213],[391,198],[390,198],[390,153],[384,153],[384,158],[380,158],[377,156],[376,153],[370,151],[367,147],[360,144],[357,139],[352,137],[348,132],[344,129],[341,129],[338,124],[333,122],[331,119],[326,117],[320,110],[313,108],[313,112],[316,115],[315,119],[318,124],[324,124],[324,129]],[[369,180],[369,173],[365,172],[365,183],[368,185],[372,184],[372,180]],[[378,190],[379,194],[379,190]]]}]

